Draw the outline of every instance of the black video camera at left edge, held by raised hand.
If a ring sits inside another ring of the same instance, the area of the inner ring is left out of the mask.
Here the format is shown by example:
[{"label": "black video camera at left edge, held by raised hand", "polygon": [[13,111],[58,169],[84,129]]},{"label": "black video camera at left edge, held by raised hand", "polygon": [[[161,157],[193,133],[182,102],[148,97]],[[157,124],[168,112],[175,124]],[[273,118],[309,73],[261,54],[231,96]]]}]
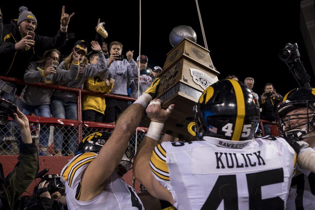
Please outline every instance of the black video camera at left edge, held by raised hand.
[{"label": "black video camera at left edge, held by raised hand", "polygon": [[14,118],[13,113],[16,112],[16,105],[3,99],[3,95],[5,93],[10,94],[13,89],[14,86],[0,79],[0,125],[4,125],[8,122],[8,116]]}]

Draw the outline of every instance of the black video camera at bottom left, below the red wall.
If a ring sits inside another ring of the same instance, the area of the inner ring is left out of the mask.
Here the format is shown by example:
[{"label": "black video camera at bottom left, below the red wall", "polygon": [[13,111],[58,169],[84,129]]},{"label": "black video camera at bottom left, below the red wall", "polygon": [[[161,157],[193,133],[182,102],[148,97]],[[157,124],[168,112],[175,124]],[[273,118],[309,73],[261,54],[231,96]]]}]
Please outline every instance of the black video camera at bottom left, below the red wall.
[{"label": "black video camera at bottom left, below the red wall", "polygon": [[[41,178],[40,182],[47,181],[49,184],[47,187],[37,189],[37,186],[34,188],[33,195],[31,196],[22,196],[17,201],[18,202],[18,210],[27,210],[36,206],[40,200],[40,194],[48,191],[49,194],[52,194],[56,191],[62,192],[66,189],[65,184],[63,184],[60,180],[60,176],[58,174],[46,174],[49,172],[48,168],[45,168],[41,172],[37,173],[35,179]],[[46,174],[44,176],[44,174]]]}]

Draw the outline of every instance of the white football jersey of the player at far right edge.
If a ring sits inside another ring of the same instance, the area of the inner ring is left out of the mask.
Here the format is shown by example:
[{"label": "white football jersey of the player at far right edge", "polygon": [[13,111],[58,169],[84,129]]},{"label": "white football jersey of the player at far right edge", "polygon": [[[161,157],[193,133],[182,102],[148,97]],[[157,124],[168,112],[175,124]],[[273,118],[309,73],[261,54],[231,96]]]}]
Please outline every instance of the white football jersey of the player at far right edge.
[{"label": "white football jersey of the player at far right edge", "polygon": [[287,209],[315,209],[315,173],[299,166],[291,181]]}]

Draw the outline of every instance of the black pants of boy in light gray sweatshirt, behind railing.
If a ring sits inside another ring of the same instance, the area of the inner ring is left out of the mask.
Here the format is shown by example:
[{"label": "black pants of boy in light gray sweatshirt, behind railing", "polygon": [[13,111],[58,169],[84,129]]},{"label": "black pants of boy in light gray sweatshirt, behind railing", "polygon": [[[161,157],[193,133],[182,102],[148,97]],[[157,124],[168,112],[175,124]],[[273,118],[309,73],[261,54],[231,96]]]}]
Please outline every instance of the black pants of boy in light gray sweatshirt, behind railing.
[{"label": "black pants of boy in light gray sweatshirt, behind railing", "polygon": [[117,99],[106,99],[106,109],[103,122],[111,123],[118,119],[118,116],[127,109],[128,102]]}]

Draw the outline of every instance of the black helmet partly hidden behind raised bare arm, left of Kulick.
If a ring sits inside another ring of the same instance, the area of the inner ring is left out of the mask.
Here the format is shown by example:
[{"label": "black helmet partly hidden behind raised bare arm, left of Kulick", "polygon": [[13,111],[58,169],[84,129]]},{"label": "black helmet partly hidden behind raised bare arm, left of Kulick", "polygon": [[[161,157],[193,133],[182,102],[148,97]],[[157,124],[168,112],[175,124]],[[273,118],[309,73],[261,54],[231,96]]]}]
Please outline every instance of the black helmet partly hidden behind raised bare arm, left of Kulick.
[{"label": "black helmet partly hidden behind raised bare arm, left of Kulick", "polygon": [[[95,152],[98,154],[100,152],[100,149],[102,149],[102,147],[104,146],[106,141],[109,139],[109,137],[111,137],[111,135],[112,135],[112,133],[109,133],[109,132],[91,133],[90,135],[85,137],[79,143],[79,145],[77,145],[77,148],[76,148],[74,154],[78,155],[78,154],[85,153],[85,152]],[[129,161],[127,161],[127,160],[121,160],[121,161],[122,162],[129,162],[132,164],[131,160],[134,157],[134,152],[130,147],[131,146],[128,145],[128,147],[125,151],[125,155],[129,159]]]}]

